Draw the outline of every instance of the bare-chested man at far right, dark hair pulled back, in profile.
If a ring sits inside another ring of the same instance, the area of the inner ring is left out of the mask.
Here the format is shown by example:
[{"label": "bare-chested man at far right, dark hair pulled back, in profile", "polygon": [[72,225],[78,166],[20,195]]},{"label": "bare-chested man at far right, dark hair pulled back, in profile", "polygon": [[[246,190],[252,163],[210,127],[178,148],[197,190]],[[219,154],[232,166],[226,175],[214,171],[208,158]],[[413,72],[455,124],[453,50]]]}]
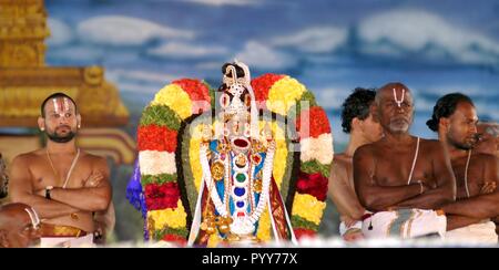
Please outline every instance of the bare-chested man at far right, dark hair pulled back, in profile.
[{"label": "bare-chested man at far right, dark hair pulled back, in profile", "polygon": [[499,215],[499,164],[496,156],[473,150],[477,122],[471,100],[451,93],[437,101],[427,125],[438,132],[456,176],[457,201],[444,206],[446,239],[497,243],[496,225],[490,219]]}]

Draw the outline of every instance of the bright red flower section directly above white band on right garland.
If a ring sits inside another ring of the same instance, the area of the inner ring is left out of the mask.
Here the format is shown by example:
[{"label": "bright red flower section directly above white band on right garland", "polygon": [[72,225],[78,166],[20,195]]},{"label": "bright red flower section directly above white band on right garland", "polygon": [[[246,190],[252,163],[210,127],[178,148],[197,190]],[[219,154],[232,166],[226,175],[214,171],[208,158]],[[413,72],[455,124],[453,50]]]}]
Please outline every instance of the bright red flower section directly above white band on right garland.
[{"label": "bright red flower section directly above white band on right garland", "polygon": [[[302,123],[302,118],[304,120],[304,123]],[[302,124],[305,125],[302,126]],[[299,138],[316,138],[322,134],[330,133],[327,114],[319,106],[314,106],[310,110],[302,111],[299,117],[296,120],[296,128],[298,129]]]}]

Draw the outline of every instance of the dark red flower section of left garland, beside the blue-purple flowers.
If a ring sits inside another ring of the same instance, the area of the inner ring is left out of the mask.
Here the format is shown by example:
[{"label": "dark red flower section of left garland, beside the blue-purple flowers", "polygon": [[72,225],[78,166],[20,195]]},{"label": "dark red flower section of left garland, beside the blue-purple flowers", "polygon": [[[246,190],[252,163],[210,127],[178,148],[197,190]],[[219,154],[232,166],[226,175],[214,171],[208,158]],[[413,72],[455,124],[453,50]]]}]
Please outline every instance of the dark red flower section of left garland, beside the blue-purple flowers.
[{"label": "dark red flower section of left garland, beside the blue-purple flowers", "polygon": [[180,198],[179,185],[166,183],[163,185],[149,184],[145,186],[145,204],[147,210],[176,208]]}]

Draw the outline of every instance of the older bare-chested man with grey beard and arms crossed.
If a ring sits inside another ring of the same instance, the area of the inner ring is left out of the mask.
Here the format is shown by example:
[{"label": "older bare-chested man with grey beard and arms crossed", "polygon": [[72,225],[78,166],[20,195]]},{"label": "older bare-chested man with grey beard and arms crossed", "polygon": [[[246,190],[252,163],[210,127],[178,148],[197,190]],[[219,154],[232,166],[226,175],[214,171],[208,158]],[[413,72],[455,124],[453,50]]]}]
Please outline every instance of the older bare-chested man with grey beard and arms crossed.
[{"label": "older bare-chested man with grey beard and arms crossed", "polygon": [[371,106],[384,137],[354,155],[354,180],[366,238],[441,236],[446,217],[437,211],[455,200],[450,160],[438,141],[409,134],[414,100],[407,86],[389,83],[377,91]]}]

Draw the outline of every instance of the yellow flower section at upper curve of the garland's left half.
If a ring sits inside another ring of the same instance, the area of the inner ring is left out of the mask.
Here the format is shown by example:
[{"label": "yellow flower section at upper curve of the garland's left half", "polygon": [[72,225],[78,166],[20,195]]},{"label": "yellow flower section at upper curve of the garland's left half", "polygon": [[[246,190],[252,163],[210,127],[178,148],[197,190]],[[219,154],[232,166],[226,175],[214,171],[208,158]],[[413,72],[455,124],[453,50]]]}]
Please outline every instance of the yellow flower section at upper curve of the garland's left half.
[{"label": "yellow flower section at upper curve of the garland's left half", "polygon": [[192,115],[192,102],[187,93],[177,84],[169,84],[154,96],[151,105],[166,105],[182,120]]}]

